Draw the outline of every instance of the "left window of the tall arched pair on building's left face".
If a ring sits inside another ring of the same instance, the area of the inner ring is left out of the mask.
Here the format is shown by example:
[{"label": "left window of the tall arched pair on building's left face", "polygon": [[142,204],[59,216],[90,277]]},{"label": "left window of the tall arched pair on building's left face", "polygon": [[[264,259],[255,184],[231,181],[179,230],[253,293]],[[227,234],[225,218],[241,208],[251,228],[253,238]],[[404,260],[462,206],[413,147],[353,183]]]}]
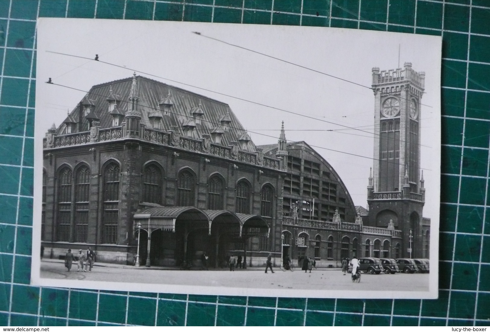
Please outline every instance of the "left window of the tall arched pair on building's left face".
[{"label": "left window of the tall arched pair on building's left face", "polygon": [[72,170],[63,167],[58,173],[58,218],[57,241],[70,241],[70,225],[72,220]]}]

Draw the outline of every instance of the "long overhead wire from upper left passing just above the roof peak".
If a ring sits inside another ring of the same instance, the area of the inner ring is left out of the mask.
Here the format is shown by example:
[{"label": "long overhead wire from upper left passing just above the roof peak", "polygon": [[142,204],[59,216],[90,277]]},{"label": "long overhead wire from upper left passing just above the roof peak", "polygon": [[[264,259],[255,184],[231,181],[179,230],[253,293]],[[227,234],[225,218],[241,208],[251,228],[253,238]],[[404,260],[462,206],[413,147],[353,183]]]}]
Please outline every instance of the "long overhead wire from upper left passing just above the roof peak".
[{"label": "long overhead wire from upper left passing just above the roof peak", "polygon": [[[268,107],[268,108],[271,108],[271,109],[274,109],[274,110],[277,110],[277,111],[282,111],[282,112],[286,112],[286,113],[289,113],[289,114],[294,114],[294,115],[297,115],[297,116],[300,116],[300,117],[304,117],[304,118],[308,118],[308,119],[312,119],[312,120],[317,120],[317,121],[322,121],[322,122],[334,124],[334,125],[337,125],[337,126],[348,128],[348,129],[354,129],[354,130],[362,131],[362,132],[367,133],[367,134],[370,134],[370,135],[378,135],[378,136],[381,136],[380,134],[373,134],[373,133],[370,133],[370,132],[365,131],[365,130],[362,130],[362,129],[357,129],[355,127],[349,127],[349,126],[346,126],[346,125],[343,125],[343,124],[339,124],[339,123],[336,123],[336,122],[332,122],[332,121],[327,121],[327,120],[323,120],[323,119],[318,119],[318,118],[310,117],[310,116],[307,116],[307,115],[304,115],[304,114],[300,114],[300,113],[296,113],[296,112],[293,112],[293,111],[287,111],[287,110],[284,110],[282,108],[278,108],[278,107],[274,107],[274,106],[269,106],[269,105],[266,105],[266,104],[262,104],[262,103],[259,103],[259,102],[256,102],[256,101],[252,101],[252,100],[248,100],[248,99],[244,99],[244,98],[240,98],[240,97],[235,97],[233,95],[226,95],[226,94],[223,94],[221,92],[216,92],[216,91],[205,89],[205,88],[201,88],[201,87],[198,87],[198,86],[195,86],[195,85],[192,85],[192,84],[187,84],[187,83],[183,83],[183,82],[180,82],[180,81],[175,81],[175,80],[172,80],[170,78],[166,78],[166,77],[162,77],[162,76],[151,74],[149,72],[138,71],[136,69],[131,69],[131,68],[128,68],[128,67],[116,65],[116,64],[113,64],[113,63],[110,63],[110,62],[102,61],[100,59],[95,60],[95,59],[87,58],[87,57],[84,57],[84,56],[67,54],[67,53],[60,53],[60,52],[54,52],[54,51],[46,51],[46,52],[53,53],[53,54],[65,55],[65,56],[71,56],[71,57],[80,58],[80,59],[93,60],[93,61],[97,61],[97,62],[106,64],[106,65],[110,65],[110,66],[122,68],[122,69],[125,69],[125,70],[137,71],[137,72],[142,73],[142,74],[145,74],[145,75],[150,75],[150,76],[153,76],[153,77],[158,77],[158,78],[161,78],[161,79],[164,79],[164,80],[167,80],[167,81],[171,81],[171,82],[174,82],[174,83],[183,84],[183,85],[186,85],[186,86],[189,86],[189,87],[193,87],[193,88],[196,88],[196,89],[208,91],[208,92],[211,92],[211,93],[214,93],[214,94],[218,94],[218,95],[224,95],[224,96],[227,96],[227,97],[230,97],[230,98],[235,98],[235,99],[238,99],[238,100],[246,101],[246,102],[249,102],[249,103],[252,103],[252,104],[255,104],[255,105]],[[405,141],[404,140],[400,140],[400,142],[405,142]]]}]

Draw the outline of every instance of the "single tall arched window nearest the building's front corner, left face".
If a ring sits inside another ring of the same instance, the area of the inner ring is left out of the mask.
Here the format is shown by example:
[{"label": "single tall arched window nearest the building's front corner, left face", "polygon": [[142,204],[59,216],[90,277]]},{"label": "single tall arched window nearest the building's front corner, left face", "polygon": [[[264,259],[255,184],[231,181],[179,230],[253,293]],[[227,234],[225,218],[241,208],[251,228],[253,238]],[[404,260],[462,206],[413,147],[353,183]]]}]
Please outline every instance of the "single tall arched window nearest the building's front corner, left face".
[{"label": "single tall arched window nearest the building's front corner, left face", "polygon": [[104,195],[102,215],[102,242],[118,242],[118,212],[119,212],[119,175],[120,168],[116,163],[110,163],[104,168]]}]

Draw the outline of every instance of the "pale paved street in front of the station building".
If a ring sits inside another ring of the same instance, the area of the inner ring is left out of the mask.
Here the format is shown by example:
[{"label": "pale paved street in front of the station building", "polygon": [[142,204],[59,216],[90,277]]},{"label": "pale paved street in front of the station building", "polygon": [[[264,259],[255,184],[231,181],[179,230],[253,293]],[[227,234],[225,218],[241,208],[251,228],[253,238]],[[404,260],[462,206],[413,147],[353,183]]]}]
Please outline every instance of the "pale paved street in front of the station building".
[{"label": "pale paved street in front of the station building", "polygon": [[[102,264],[101,264],[102,265]],[[41,278],[115,281],[132,283],[138,280],[147,284],[225,286],[244,288],[284,289],[332,289],[332,290],[385,290],[385,291],[427,291],[429,274],[363,274],[359,284],[352,283],[350,275],[343,275],[339,269],[313,270],[305,273],[300,269],[293,272],[275,269],[275,273],[264,273],[264,269],[237,269],[209,271],[179,271],[163,269],[133,268],[116,264],[94,266],[92,272],[76,272],[76,264],[68,272],[60,261],[42,261]],[[80,286],[83,286],[80,284]]]}]

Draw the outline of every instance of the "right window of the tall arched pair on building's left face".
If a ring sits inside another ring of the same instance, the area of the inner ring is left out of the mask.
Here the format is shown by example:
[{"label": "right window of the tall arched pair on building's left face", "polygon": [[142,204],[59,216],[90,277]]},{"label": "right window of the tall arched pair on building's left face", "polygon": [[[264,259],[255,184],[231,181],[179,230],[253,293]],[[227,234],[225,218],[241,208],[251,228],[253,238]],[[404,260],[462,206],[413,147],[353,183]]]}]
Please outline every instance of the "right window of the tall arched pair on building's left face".
[{"label": "right window of the tall arched pair on building's left face", "polygon": [[87,242],[89,223],[90,168],[80,166],[75,173],[75,242]]}]

